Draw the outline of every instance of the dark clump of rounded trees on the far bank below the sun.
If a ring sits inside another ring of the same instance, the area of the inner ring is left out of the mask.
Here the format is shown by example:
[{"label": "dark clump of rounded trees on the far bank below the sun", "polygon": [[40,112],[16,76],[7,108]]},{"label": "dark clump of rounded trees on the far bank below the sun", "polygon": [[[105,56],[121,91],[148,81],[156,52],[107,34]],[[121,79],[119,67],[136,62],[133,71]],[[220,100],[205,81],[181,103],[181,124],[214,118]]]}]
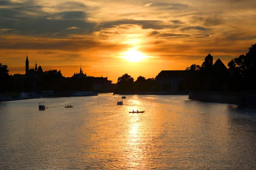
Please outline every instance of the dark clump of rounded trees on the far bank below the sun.
[{"label": "dark clump of rounded trees on the far bank below the sun", "polygon": [[132,91],[148,92],[159,90],[160,87],[157,86],[154,78],[145,79],[145,77],[139,76],[137,77],[137,80],[134,81],[133,77],[128,74],[124,74],[117,79],[115,93]]}]

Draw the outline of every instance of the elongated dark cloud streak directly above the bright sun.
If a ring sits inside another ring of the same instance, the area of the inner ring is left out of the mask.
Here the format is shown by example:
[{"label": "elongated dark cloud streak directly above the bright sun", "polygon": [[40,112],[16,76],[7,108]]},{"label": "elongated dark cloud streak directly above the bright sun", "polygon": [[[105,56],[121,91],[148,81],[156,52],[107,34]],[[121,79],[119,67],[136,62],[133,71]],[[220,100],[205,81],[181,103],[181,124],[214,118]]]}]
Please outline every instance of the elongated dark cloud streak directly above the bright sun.
[{"label": "elongated dark cloud streak directly above the bright sun", "polygon": [[120,25],[132,24],[141,26],[142,29],[164,29],[164,28],[178,28],[177,25],[167,25],[163,21],[159,20],[117,20],[110,22],[103,22],[99,25],[99,28],[115,28]]}]

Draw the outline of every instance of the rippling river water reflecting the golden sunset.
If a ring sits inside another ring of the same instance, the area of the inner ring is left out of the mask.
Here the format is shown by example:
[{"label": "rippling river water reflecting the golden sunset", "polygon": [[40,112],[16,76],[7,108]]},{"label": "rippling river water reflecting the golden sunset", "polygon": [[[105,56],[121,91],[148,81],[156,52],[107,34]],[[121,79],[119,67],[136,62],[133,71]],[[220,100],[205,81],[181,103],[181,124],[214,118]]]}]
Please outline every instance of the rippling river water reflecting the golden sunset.
[{"label": "rippling river water reflecting the golden sunset", "polygon": [[0,102],[0,170],[256,169],[255,109],[187,95],[127,95],[116,105],[120,97]]}]

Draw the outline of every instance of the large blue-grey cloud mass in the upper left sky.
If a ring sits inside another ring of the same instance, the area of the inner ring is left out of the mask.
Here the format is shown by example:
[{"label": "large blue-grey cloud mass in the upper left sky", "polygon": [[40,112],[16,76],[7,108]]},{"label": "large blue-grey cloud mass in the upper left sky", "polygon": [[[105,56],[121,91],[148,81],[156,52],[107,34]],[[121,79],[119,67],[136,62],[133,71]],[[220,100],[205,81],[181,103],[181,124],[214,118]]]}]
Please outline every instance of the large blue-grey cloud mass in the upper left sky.
[{"label": "large blue-grey cloud mass in the upper left sky", "polygon": [[[4,2],[5,4],[10,3],[10,1],[6,0]],[[87,14],[84,11],[62,11],[48,14],[41,10],[41,6],[33,4],[33,1],[28,1],[24,4],[10,4],[13,7],[0,8],[0,28],[9,29],[4,32],[5,34],[63,37],[67,34],[91,34],[97,30],[96,23],[86,20]],[[84,6],[80,3],[72,4]],[[79,29],[66,29],[72,27]]]}]

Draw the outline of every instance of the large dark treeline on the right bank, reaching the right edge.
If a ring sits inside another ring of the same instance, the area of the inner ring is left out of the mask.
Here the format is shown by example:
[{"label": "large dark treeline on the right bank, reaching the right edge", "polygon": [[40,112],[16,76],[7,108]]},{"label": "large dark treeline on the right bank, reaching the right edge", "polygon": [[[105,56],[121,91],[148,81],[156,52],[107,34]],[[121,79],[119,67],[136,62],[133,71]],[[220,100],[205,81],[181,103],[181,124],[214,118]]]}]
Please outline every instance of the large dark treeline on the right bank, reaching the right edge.
[{"label": "large dark treeline on the right bank, reaching the right edge", "polygon": [[255,91],[256,44],[248,49],[245,55],[227,64],[227,71],[207,71],[204,62],[202,65],[192,64],[186,68],[189,76],[185,79],[185,88],[192,91]]}]

